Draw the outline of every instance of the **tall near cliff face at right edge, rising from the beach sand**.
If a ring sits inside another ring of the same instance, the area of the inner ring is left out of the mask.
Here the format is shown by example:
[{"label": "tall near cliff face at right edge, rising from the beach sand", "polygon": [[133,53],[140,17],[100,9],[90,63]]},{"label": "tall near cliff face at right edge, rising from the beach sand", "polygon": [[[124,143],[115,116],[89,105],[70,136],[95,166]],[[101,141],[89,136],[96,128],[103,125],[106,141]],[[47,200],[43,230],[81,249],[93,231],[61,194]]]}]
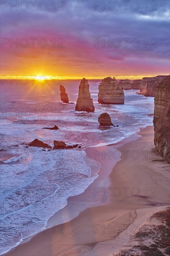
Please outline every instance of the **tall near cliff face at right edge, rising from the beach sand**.
[{"label": "tall near cliff face at right edge, rising from the beach sand", "polygon": [[170,75],[156,87],[153,125],[157,152],[170,163]]}]

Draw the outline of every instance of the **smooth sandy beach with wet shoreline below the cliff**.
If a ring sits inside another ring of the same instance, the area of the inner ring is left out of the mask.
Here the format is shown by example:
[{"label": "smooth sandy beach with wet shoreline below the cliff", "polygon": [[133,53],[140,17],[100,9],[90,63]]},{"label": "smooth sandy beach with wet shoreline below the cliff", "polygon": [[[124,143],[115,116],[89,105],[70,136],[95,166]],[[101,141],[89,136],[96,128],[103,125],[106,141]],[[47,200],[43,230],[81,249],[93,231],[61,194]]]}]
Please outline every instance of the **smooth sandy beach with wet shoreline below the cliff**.
[{"label": "smooth sandy beach with wet shoreline below the cliff", "polygon": [[148,126],[119,143],[88,148],[101,163],[98,178],[69,198],[48,229],[6,256],[112,256],[131,248],[136,230],[170,204],[170,165],[154,153],[153,140]]}]

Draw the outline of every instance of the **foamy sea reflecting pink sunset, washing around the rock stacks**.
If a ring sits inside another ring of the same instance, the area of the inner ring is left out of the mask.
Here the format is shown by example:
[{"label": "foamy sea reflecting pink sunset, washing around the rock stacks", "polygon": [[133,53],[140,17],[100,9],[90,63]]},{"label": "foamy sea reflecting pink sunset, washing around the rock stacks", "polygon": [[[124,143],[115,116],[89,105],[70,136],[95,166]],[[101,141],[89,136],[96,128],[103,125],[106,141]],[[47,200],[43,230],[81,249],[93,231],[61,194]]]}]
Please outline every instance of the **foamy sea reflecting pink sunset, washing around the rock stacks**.
[{"label": "foamy sea reflecting pink sunset, washing around the rock stacks", "polygon": [[[42,231],[69,196],[83,193],[98,177],[100,163],[86,155],[86,148],[119,142],[152,125],[153,97],[127,90],[124,105],[103,105],[97,102],[99,81],[88,82],[94,113],[75,111],[79,80],[44,85],[1,81],[0,254]],[[75,104],[60,101],[60,84]],[[100,127],[98,117],[104,112],[119,127]],[[54,125],[59,129],[43,129]],[[51,146],[57,140],[81,148],[25,148],[36,138]]]}]

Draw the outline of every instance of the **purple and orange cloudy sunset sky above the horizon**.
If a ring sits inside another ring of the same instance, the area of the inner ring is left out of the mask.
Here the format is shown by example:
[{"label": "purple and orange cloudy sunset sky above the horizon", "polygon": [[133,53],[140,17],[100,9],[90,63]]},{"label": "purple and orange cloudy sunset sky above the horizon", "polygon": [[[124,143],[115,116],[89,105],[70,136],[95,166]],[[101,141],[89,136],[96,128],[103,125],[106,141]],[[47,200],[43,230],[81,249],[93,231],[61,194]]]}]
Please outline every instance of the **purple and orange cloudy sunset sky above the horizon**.
[{"label": "purple and orange cloudy sunset sky above the horizon", "polygon": [[169,0],[1,0],[0,7],[1,78],[170,73]]}]

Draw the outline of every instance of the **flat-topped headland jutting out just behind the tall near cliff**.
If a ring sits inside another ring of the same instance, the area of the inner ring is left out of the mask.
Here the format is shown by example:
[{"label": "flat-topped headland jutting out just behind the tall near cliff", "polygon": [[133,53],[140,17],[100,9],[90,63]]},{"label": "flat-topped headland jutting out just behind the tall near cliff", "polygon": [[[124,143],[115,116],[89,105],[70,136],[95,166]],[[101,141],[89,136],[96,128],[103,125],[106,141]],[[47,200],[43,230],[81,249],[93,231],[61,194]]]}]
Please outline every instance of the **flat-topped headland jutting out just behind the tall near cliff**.
[{"label": "flat-topped headland jutting out just behind the tall near cliff", "polygon": [[166,75],[157,75],[153,77],[143,77],[140,84],[140,92],[139,94],[143,94],[145,96],[155,96],[156,86],[163,81],[167,76]]}]

